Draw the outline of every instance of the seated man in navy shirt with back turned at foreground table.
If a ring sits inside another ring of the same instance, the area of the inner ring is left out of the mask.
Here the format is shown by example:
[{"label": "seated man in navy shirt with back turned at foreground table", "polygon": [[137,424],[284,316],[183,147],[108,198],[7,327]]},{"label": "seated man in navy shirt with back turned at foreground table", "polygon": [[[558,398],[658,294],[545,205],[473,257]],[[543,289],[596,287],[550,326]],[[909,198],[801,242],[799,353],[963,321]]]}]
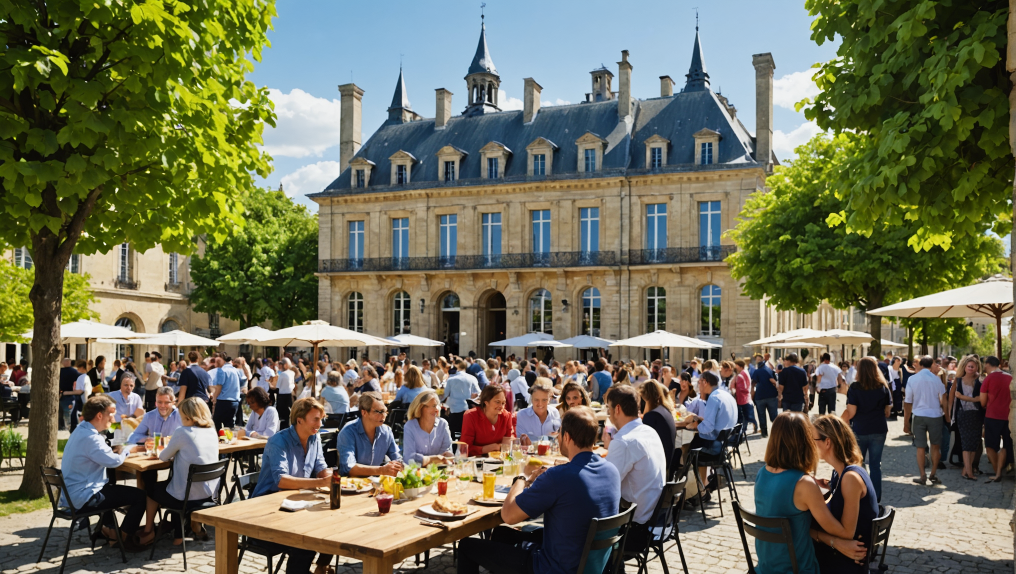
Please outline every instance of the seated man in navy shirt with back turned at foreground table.
[{"label": "seated man in navy shirt with back turned at foreground table", "polygon": [[[568,463],[542,467],[529,480],[517,476],[501,508],[501,518],[508,524],[543,515],[544,527],[522,532],[498,526],[489,540],[461,539],[458,574],[478,574],[480,566],[495,574],[578,569],[590,520],[617,514],[621,499],[618,469],[592,452],[598,432],[596,416],[588,406],[573,406],[565,412],[559,442]],[[523,541],[532,544],[525,550],[515,546]],[[607,559],[606,552],[589,556],[586,569],[598,572]],[[599,564],[590,567],[593,562]]]}]

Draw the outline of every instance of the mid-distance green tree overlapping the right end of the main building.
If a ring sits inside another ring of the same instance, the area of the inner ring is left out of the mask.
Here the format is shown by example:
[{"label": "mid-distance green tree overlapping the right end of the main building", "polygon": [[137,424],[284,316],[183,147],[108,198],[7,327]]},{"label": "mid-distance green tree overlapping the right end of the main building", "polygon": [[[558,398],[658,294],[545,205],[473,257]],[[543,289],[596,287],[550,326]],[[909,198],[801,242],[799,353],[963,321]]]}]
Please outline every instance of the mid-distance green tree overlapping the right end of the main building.
[{"label": "mid-distance green tree overlapping the right end of the main building", "polygon": [[[797,148],[798,160],[767,180],[768,193],[752,194],[728,232],[739,250],[727,261],[752,299],[777,309],[811,313],[823,301],[839,309],[874,309],[894,301],[965,285],[997,268],[1001,242],[985,235],[957,238],[952,248],[915,252],[906,239],[913,222],[880,227],[871,237],[830,227],[828,213],[846,209],[836,197],[835,173],[863,153],[850,133],[820,134]],[[881,353],[880,317],[870,318]]]}]

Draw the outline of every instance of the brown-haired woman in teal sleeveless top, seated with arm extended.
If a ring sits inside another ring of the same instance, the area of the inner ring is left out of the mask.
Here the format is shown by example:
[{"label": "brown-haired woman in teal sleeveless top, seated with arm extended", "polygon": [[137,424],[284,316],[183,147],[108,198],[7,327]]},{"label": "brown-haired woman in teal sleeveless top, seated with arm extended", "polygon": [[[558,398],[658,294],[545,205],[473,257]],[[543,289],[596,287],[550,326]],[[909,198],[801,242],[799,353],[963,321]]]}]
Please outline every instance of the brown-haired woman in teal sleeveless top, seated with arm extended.
[{"label": "brown-haired woman in teal sleeveless top, seated with arm extended", "polygon": [[[819,455],[814,440],[815,430],[803,412],[784,410],[773,421],[769,444],[765,451],[765,466],[755,479],[755,514],[790,521],[793,554],[801,574],[819,574],[819,563],[812,545],[810,528],[814,517],[829,534],[824,541],[838,551],[859,559],[865,549],[860,546],[833,517],[822,498],[818,483],[811,472],[818,466]],[[763,528],[778,532],[777,528]],[[830,536],[831,534],[831,536]],[[792,572],[790,555],[782,544],[755,540],[759,574]]]}]

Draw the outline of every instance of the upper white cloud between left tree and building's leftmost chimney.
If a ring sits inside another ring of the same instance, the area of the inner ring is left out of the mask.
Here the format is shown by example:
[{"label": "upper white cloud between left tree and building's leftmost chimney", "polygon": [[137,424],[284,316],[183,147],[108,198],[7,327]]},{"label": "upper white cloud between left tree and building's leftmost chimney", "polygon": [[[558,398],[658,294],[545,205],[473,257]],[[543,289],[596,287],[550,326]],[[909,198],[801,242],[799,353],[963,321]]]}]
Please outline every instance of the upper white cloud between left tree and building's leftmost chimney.
[{"label": "upper white cloud between left tree and building's leftmost chimney", "polygon": [[264,132],[265,151],[289,157],[318,157],[325,149],[338,145],[338,100],[315,98],[293,88],[289,93],[271,88],[268,95],[275,104],[276,127]]}]

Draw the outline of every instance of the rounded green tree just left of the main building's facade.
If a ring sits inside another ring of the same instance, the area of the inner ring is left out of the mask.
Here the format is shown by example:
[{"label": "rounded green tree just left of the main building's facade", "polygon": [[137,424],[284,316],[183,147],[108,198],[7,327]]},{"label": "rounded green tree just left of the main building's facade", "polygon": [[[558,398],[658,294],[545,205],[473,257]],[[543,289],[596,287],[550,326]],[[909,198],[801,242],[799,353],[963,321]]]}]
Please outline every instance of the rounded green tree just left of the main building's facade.
[{"label": "rounded green tree just left of the main building's facade", "polygon": [[194,310],[219,313],[240,328],[317,318],[317,217],[281,191],[252,190],[243,203],[250,225],[210,239],[191,260]]}]

